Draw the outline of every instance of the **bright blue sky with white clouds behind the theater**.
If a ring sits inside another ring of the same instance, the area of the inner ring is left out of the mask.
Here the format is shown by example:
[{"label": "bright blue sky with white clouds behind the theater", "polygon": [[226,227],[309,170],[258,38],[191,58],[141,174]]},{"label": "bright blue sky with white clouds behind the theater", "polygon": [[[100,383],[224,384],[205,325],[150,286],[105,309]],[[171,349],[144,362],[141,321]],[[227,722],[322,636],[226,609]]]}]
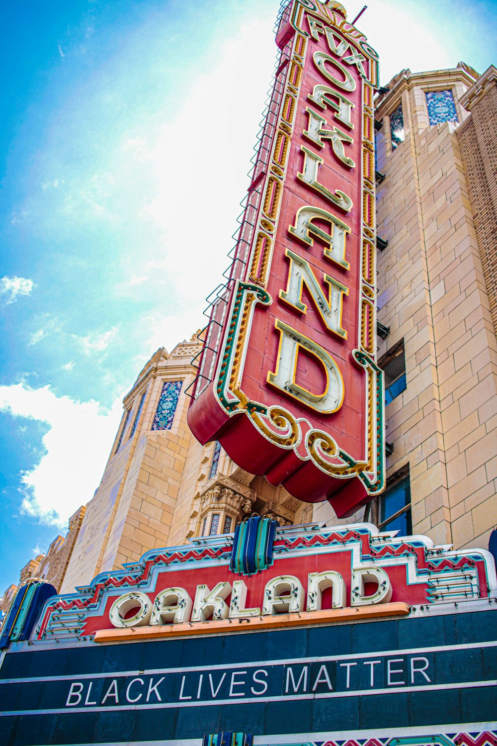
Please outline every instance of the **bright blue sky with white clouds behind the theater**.
[{"label": "bright blue sky with white clouds behind the theater", "polygon": [[[352,19],[364,2],[347,3]],[[121,398],[202,324],[279,0],[19,0],[1,69],[0,593],[98,486]],[[370,0],[382,83],[496,62],[495,5]],[[90,579],[88,579],[90,580]]]}]

